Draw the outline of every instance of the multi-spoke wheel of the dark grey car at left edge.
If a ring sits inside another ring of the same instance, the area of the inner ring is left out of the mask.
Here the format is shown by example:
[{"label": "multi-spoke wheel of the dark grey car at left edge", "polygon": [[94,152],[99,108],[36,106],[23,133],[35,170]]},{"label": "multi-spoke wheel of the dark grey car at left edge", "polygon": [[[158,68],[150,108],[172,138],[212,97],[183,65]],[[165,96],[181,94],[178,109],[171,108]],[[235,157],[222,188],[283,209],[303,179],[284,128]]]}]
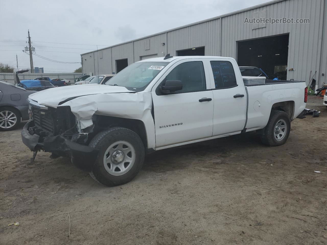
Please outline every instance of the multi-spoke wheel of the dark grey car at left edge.
[{"label": "multi-spoke wheel of the dark grey car at left edge", "polygon": [[0,130],[9,131],[18,127],[21,122],[20,113],[16,108],[5,106],[0,108]]}]

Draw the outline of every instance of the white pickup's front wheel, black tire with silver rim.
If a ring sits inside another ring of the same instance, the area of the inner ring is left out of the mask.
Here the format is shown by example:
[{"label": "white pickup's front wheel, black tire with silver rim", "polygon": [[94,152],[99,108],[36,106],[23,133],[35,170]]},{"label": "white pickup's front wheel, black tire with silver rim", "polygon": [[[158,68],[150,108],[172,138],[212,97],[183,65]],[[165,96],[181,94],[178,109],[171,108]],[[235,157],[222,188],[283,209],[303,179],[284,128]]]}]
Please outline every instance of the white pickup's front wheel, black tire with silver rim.
[{"label": "white pickup's front wheel, black tire with silver rim", "polygon": [[112,127],[98,133],[89,146],[99,150],[90,175],[103,185],[128,183],[142,168],[144,145],[132,130]]}]

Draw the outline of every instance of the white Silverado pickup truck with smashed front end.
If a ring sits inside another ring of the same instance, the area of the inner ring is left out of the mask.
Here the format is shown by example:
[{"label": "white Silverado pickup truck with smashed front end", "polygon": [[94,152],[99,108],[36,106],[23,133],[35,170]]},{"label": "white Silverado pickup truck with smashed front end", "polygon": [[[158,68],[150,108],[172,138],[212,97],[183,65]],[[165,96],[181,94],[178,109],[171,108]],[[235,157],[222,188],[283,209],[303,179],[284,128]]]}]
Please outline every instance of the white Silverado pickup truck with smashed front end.
[{"label": "white Silverado pickup truck with smashed front end", "polygon": [[135,62],[105,85],[29,95],[22,139],[34,152],[70,157],[98,182],[132,180],[145,153],[257,130],[264,144],[285,143],[303,118],[305,82],[245,86],[233,58],[184,56]]}]

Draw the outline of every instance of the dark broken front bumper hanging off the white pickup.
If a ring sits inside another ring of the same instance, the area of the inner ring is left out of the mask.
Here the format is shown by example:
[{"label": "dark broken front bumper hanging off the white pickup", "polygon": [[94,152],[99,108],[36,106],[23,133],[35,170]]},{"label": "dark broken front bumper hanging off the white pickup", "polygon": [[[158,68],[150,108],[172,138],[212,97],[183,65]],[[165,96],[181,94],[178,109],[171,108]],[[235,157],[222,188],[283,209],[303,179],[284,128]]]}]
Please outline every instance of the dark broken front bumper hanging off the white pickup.
[{"label": "dark broken front bumper hanging off the white pickup", "polygon": [[23,143],[31,151],[43,150],[54,155],[70,157],[72,163],[84,171],[91,172],[99,150],[92,147],[77,144],[61,136],[46,136],[41,138],[37,134],[30,134],[29,128],[32,122],[26,123],[22,130]]}]

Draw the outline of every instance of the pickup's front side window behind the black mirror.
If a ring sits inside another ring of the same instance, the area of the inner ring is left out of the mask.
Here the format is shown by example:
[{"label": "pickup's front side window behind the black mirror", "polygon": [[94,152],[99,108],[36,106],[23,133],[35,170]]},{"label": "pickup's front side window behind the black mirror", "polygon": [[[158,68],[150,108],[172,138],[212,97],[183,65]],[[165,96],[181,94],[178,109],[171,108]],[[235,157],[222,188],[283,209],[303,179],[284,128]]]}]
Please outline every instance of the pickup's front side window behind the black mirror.
[{"label": "pickup's front side window behind the black mirror", "polygon": [[178,93],[206,90],[202,61],[184,62],[176,66],[167,76],[166,81],[180,80],[183,89]]}]

